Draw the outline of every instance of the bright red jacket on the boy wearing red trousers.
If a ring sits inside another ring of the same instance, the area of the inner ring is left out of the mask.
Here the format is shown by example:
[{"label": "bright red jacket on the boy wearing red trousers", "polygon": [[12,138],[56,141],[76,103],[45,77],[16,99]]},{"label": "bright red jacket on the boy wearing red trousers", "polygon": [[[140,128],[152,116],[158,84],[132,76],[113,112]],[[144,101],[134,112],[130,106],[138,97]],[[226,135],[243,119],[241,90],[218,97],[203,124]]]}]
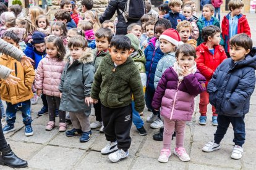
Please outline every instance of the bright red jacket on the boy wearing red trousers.
[{"label": "bright red jacket on the boy wearing red trousers", "polygon": [[197,59],[195,62],[197,62],[197,69],[200,71],[200,73],[205,76],[208,81],[210,81],[211,76],[213,76],[213,73],[215,69],[220,65],[221,62],[223,62],[224,59],[227,58],[226,53],[222,46],[218,45],[215,46],[214,55],[211,54],[208,47],[205,46],[205,42],[197,46]]}]

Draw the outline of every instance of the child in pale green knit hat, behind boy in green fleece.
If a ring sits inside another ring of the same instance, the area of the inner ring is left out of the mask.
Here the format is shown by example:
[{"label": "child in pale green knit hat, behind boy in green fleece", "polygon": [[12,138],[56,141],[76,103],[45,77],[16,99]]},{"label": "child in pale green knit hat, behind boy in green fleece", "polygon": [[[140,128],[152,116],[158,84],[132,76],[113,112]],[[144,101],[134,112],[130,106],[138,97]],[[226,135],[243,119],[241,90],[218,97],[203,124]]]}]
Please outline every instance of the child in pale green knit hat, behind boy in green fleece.
[{"label": "child in pale green knit hat, behind boy in green fleece", "polygon": [[[126,34],[126,36],[130,39],[130,42],[132,43],[130,57],[134,60],[135,65],[137,68],[139,68],[140,71],[140,79],[142,81],[143,86],[143,92],[145,93],[146,90],[146,84],[147,84],[147,75],[146,75],[146,69],[145,69],[145,55],[143,51],[139,48],[140,41],[139,39],[132,33]],[[136,129],[135,131],[139,132],[140,136],[146,136],[148,133],[144,128],[144,123],[142,118],[140,118],[140,115],[143,115],[142,113],[138,113],[138,111],[135,110],[135,104],[134,99],[132,99],[132,122],[134,123]]]}]

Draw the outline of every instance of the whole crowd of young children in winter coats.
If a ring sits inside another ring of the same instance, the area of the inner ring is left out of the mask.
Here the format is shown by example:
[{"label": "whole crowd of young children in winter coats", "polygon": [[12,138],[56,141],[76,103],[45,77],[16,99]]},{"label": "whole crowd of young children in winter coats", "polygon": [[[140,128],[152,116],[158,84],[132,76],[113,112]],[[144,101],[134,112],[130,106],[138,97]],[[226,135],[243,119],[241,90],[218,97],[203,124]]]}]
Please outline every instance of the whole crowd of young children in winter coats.
[{"label": "whole crowd of young children in winter coats", "polygon": [[[29,9],[29,18],[15,18],[14,25],[13,18],[8,18],[13,13],[2,13],[1,38],[35,61],[22,67],[1,55],[0,64],[15,70],[12,75],[21,79],[17,85],[1,81],[1,99],[7,103],[4,134],[14,131],[15,113],[20,110],[25,136],[33,135],[30,104],[41,96],[43,108],[38,115],[49,113],[47,131],[56,126],[56,116],[59,131],[66,131],[68,137],[81,136],[80,142],[90,140],[91,129],[100,127],[108,141],[101,153],[110,153],[109,160],[117,162],[129,155],[132,123],[141,136],[147,135],[140,118],[147,105],[152,112],[147,122],[151,128],[160,128],[153,139],[163,140],[158,161],[168,162],[174,132],[173,153],[189,161],[184,133],[194,113],[194,98],[200,94],[199,124],[207,123],[210,101],[212,124],[217,126],[214,140],[203,151],[219,149],[231,123],[235,143],[231,158],[240,159],[244,115],[255,86],[256,49],[241,14],[244,4],[231,0],[228,6],[231,12],[220,28],[211,4],[203,6],[198,18],[195,2],[170,0],[159,7],[158,19],[145,14],[141,24],[127,27],[126,35],[115,35],[111,20],[100,24],[91,0],[82,1],[83,17],[75,1],[61,1],[51,26],[39,7]],[[91,104],[96,116],[92,124]],[[69,131],[66,119],[73,126]]]}]

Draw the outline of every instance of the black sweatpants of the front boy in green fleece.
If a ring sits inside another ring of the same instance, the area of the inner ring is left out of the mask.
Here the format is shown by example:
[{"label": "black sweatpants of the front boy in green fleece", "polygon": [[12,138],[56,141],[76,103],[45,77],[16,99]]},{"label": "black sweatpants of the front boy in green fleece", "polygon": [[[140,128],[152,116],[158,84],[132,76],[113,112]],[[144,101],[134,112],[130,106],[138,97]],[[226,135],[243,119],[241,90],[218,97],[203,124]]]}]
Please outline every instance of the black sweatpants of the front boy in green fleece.
[{"label": "black sweatpants of the front boy in green fleece", "polygon": [[108,108],[102,105],[101,117],[106,140],[117,141],[117,147],[125,152],[130,148],[130,127],[132,127],[132,105]]}]

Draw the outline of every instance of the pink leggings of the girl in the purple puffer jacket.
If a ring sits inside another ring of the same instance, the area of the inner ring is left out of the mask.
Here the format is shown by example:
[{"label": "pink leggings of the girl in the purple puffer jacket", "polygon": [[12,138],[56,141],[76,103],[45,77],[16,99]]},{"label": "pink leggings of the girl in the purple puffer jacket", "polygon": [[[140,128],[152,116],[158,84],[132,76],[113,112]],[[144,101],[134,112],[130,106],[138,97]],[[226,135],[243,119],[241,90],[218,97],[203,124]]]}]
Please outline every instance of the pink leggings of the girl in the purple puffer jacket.
[{"label": "pink leggings of the girl in the purple puffer jacket", "polygon": [[164,118],[163,148],[171,148],[171,136],[176,131],[176,147],[183,147],[186,121]]}]

